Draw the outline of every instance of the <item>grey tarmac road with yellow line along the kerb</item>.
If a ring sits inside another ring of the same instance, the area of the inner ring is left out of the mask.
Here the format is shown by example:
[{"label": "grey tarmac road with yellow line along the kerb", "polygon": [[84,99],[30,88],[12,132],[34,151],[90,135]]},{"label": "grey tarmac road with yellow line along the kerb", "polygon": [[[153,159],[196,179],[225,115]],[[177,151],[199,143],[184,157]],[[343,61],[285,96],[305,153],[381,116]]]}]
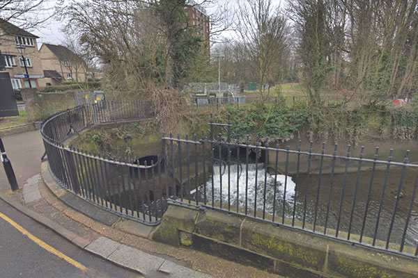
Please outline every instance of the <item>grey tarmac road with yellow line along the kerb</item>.
[{"label": "grey tarmac road with yellow line along the kerb", "polygon": [[0,212],[23,229],[87,269],[81,270],[64,261],[51,250],[45,250],[22,234],[0,214],[0,277],[78,278],[78,277],[141,277],[141,275],[104,261],[68,242],[61,236],[23,215],[0,199]]}]

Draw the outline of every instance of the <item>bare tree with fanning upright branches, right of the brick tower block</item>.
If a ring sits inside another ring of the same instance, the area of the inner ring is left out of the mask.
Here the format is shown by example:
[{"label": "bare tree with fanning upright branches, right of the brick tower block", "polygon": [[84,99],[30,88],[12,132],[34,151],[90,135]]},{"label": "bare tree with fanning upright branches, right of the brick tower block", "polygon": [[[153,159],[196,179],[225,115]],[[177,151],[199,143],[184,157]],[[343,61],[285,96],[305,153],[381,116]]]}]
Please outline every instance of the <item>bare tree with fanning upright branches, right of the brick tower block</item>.
[{"label": "bare tree with fanning upright branches, right of the brick tower block", "polygon": [[286,46],[287,20],[271,0],[240,1],[238,10],[235,33],[258,72],[258,91],[263,98],[264,86],[272,82],[272,71],[279,66],[277,60]]}]

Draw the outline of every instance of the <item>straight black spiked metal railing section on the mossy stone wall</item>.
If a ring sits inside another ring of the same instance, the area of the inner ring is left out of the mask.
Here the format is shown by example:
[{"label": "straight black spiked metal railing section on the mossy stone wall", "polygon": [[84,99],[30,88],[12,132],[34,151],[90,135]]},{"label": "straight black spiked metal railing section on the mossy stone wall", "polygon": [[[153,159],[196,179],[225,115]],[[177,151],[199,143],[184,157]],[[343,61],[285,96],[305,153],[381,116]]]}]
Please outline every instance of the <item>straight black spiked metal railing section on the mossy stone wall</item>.
[{"label": "straight black spiked metal railing section on the mossy stone wall", "polygon": [[312,142],[251,143],[212,119],[208,136],[162,140],[173,202],[418,255],[418,165],[410,151],[395,162],[392,149],[379,160],[378,148],[355,156],[350,145],[326,154],[325,142],[320,152]]}]

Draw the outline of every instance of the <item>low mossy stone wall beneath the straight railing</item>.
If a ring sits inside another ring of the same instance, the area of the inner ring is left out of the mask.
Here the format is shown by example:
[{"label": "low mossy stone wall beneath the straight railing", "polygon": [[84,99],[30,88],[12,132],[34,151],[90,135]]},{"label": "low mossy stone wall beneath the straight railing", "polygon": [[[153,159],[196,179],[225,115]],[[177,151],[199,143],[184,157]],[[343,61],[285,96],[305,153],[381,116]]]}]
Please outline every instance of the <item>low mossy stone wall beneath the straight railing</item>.
[{"label": "low mossy stone wall beneath the straight railing", "polygon": [[418,259],[174,204],[169,204],[153,239],[284,277],[418,277]]}]

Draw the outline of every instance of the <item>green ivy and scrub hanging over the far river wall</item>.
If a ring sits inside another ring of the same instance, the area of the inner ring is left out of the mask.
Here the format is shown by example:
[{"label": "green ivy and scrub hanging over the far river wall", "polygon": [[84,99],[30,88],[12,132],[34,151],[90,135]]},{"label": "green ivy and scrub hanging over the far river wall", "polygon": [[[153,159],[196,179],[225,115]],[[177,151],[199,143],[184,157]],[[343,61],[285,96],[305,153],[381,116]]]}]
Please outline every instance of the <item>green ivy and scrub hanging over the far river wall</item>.
[{"label": "green ivy and scrub hanging over the far river wall", "polygon": [[301,104],[291,108],[281,104],[261,106],[226,106],[226,115],[231,115],[233,133],[267,138],[287,139],[305,130],[311,140],[348,140],[353,145],[370,134],[382,134],[391,128],[394,138],[410,140],[416,137],[418,126],[417,101],[403,106],[392,103],[364,105],[356,108],[345,106]]}]

